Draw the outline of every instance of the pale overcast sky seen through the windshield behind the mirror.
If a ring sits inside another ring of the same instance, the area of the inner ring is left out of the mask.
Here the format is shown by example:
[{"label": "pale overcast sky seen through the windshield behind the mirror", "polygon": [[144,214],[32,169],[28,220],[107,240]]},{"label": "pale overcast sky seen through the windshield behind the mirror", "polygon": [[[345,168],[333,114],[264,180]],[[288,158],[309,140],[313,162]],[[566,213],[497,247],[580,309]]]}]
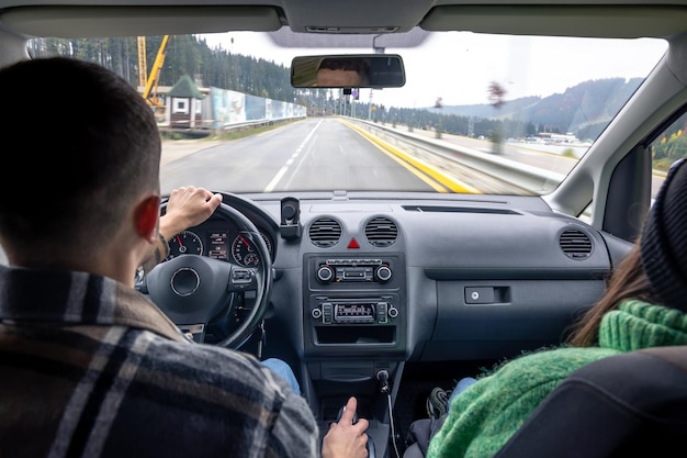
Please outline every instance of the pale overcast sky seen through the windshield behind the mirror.
[{"label": "pale overcast sky seen through the windshield behind the mirror", "polygon": [[[286,67],[297,55],[372,53],[372,49],[284,48],[263,34],[230,32],[201,35],[209,46],[272,60]],[[399,54],[406,69],[403,88],[361,90],[361,99],[387,107],[488,103],[491,81],[506,89],[506,100],[547,97],[590,79],[645,77],[667,48],[661,40],[604,40],[483,35],[444,32]]]}]

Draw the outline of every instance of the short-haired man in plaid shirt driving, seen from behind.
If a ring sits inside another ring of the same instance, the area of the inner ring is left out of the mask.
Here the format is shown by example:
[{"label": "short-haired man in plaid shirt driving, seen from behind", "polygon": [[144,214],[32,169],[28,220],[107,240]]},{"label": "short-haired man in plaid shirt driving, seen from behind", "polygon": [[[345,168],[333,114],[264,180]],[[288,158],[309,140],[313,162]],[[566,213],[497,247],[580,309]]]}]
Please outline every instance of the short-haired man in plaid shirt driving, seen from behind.
[{"label": "short-haired man in plaid shirt driving, seen from behind", "polygon": [[[160,138],[143,98],[67,58],[7,67],[0,88],[0,130],[26,143],[3,152],[22,186],[0,185],[0,457],[318,456],[314,416],[284,379],[190,342],[133,288],[166,249]],[[35,135],[38,105],[60,115]],[[204,199],[209,215],[218,201]],[[367,456],[356,406],[323,457]]]}]

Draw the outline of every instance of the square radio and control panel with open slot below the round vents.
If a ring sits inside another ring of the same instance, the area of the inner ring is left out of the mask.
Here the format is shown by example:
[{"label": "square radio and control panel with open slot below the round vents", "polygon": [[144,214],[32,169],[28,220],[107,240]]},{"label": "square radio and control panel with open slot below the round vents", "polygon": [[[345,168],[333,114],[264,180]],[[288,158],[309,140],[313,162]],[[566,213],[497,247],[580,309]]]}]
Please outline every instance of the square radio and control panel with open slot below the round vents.
[{"label": "square radio and control panel with open slot below the round vents", "polygon": [[305,255],[305,354],[312,357],[405,354],[405,261]]}]

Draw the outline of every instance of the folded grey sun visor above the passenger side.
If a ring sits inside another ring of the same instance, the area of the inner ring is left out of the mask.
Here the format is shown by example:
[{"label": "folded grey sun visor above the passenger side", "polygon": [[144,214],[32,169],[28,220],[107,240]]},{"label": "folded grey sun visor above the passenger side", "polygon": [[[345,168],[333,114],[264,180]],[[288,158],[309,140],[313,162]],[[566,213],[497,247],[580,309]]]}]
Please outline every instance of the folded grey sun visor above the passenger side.
[{"label": "folded grey sun visor above the passenger side", "polygon": [[687,8],[628,5],[441,5],[420,26],[513,35],[606,38],[669,37],[687,24]]}]

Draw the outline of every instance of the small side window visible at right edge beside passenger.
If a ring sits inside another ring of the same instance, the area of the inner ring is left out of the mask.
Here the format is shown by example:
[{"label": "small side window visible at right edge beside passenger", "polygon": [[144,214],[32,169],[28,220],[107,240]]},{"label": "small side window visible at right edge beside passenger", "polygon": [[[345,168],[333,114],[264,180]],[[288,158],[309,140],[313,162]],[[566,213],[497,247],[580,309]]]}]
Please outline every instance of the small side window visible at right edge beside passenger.
[{"label": "small side window visible at right edge beside passenger", "polygon": [[653,176],[651,197],[656,197],[665,174],[673,163],[687,157],[687,112],[651,143]]}]

